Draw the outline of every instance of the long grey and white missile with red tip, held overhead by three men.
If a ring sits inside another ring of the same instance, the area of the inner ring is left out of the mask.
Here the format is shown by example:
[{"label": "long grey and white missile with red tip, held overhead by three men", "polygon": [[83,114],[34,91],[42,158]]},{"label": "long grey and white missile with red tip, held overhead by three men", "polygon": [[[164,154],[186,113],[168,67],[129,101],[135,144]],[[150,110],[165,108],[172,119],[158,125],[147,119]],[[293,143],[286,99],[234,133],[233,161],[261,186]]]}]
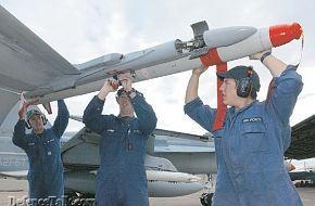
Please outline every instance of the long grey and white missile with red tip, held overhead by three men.
[{"label": "long grey and white missile with red tip, held overhead by three men", "polygon": [[42,88],[25,93],[38,103],[98,91],[105,78],[126,73],[134,82],[163,77],[198,67],[219,65],[249,56],[274,47],[280,47],[302,35],[298,23],[266,28],[249,26],[209,29],[205,22],[193,24],[194,38],[165,42],[127,54],[112,53],[74,65],[78,75],[53,79]]}]

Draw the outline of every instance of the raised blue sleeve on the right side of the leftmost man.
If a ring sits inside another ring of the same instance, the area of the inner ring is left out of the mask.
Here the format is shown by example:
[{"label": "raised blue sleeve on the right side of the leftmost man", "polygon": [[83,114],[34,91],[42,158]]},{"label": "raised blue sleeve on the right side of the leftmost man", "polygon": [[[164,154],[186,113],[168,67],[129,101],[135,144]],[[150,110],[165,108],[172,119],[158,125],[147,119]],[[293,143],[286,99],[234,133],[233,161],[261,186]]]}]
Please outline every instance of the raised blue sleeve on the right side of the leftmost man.
[{"label": "raised blue sleeve on the right side of the leftmost man", "polygon": [[68,111],[64,100],[58,101],[58,115],[53,123],[53,130],[56,137],[61,138],[68,123]]}]

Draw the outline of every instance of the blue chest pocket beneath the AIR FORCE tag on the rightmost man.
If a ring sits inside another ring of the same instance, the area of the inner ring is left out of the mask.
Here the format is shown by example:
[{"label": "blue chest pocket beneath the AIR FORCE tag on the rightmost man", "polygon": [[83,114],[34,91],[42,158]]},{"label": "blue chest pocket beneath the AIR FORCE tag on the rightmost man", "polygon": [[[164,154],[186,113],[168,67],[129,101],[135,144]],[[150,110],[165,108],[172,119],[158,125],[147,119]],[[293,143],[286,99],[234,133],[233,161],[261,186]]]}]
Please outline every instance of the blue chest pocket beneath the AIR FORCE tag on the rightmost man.
[{"label": "blue chest pocket beneath the AIR FORCE tag on the rightmost man", "polygon": [[264,125],[261,124],[251,124],[251,125],[245,125],[242,128],[243,130],[243,141],[244,141],[244,146],[245,151],[249,153],[257,153],[257,152],[263,152],[267,150],[266,146],[266,129]]}]

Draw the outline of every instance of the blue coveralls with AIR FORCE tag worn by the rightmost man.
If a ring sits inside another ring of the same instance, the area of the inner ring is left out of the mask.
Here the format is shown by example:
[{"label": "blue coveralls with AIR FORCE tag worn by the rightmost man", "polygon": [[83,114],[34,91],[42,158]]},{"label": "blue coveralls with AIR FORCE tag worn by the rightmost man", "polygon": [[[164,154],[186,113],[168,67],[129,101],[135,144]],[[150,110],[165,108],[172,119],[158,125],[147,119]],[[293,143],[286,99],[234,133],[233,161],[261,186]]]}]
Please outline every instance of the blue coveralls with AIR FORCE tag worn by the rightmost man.
[{"label": "blue coveralls with AIR FORCE tag worn by the rightmost man", "polygon": [[284,165],[291,142],[289,118],[303,83],[294,66],[274,78],[269,102],[227,110],[224,127],[213,132],[216,110],[197,98],[185,112],[213,132],[217,180],[213,206],[303,205]]}]

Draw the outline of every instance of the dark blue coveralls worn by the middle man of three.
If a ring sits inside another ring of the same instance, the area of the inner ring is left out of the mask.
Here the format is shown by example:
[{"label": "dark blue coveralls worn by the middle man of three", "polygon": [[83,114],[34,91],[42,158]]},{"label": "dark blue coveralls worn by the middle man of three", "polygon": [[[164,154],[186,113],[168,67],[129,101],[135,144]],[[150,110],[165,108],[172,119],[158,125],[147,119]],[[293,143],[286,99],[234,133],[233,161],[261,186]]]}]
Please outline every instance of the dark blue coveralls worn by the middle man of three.
[{"label": "dark blue coveralls worn by the middle man of three", "polygon": [[131,99],[135,117],[101,115],[104,101],[94,96],[84,113],[84,123],[101,136],[97,205],[148,206],[144,170],[146,143],[155,129],[156,117],[144,98]]}]

